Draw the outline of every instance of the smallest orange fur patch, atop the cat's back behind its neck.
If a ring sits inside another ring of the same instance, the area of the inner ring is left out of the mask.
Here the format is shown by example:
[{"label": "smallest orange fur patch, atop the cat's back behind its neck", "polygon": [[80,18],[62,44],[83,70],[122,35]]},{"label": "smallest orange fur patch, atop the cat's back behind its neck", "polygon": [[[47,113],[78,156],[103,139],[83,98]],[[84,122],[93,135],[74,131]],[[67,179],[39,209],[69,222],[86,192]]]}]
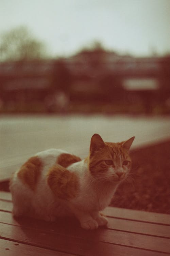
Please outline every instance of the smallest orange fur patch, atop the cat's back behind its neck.
[{"label": "smallest orange fur patch, atop the cat's back behind its neck", "polygon": [[63,167],[68,167],[69,165],[81,161],[81,158],[76,155],[71,155],[63,153],[58,156],[57,164],[60,164]]}]

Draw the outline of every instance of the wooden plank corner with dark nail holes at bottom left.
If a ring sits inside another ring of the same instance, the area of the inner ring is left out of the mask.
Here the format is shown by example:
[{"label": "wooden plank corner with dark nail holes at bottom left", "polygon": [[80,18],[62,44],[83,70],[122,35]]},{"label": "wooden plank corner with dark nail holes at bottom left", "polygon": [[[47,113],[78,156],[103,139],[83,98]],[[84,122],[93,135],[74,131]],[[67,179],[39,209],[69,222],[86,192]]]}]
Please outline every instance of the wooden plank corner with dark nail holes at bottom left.
[{"label": "wooden plank corner with dark nail holes at bottom left", "polygon": [[5,256],[75,256],[75,254],[67,254],[62,252],[56,252],[28,244],[17,243],[9,240],[0,239],[0,255]]}]

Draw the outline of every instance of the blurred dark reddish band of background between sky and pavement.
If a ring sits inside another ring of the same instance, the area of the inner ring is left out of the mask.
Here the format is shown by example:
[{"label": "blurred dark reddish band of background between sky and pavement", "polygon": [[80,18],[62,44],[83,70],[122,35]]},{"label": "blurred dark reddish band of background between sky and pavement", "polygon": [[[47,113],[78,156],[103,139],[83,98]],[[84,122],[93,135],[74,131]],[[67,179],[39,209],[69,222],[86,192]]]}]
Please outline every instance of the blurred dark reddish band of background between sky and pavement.
[{"label": "blurred dark reddish band of background between sky and pavement", "polygon": [[0,63],[0,112],[170,113],[170,57],[84,51]]}]

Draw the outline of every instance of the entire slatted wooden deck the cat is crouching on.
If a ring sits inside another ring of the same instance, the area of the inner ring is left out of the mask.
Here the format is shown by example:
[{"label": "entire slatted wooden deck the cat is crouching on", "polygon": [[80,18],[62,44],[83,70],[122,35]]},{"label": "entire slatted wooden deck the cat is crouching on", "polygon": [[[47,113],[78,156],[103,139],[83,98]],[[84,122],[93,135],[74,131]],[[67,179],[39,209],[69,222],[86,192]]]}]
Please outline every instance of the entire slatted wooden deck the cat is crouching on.
[{"label": "entire slatted wooden deck the cat is crouching on", "polygon": [[74,219],[13,219],[11,194],[0,191],[2,256],[170,255],[170,216],[108,207],[107,228],[83,230]]}]

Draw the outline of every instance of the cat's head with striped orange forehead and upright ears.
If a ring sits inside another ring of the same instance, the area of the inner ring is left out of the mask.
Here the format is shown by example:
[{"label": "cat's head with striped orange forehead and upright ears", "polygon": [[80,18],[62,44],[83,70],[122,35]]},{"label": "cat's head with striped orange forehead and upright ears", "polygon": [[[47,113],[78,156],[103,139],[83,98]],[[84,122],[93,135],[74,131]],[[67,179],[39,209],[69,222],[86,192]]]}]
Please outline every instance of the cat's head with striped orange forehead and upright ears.
[{"label": "cat's head with striped orange forehead and upright ears", "polygon": [[122,181],[131,168],[129,149],[135,137],[126,141],[104,142],[99,134],[94,134],[90,142],[89,170],[91,175],[102,181]]}]

